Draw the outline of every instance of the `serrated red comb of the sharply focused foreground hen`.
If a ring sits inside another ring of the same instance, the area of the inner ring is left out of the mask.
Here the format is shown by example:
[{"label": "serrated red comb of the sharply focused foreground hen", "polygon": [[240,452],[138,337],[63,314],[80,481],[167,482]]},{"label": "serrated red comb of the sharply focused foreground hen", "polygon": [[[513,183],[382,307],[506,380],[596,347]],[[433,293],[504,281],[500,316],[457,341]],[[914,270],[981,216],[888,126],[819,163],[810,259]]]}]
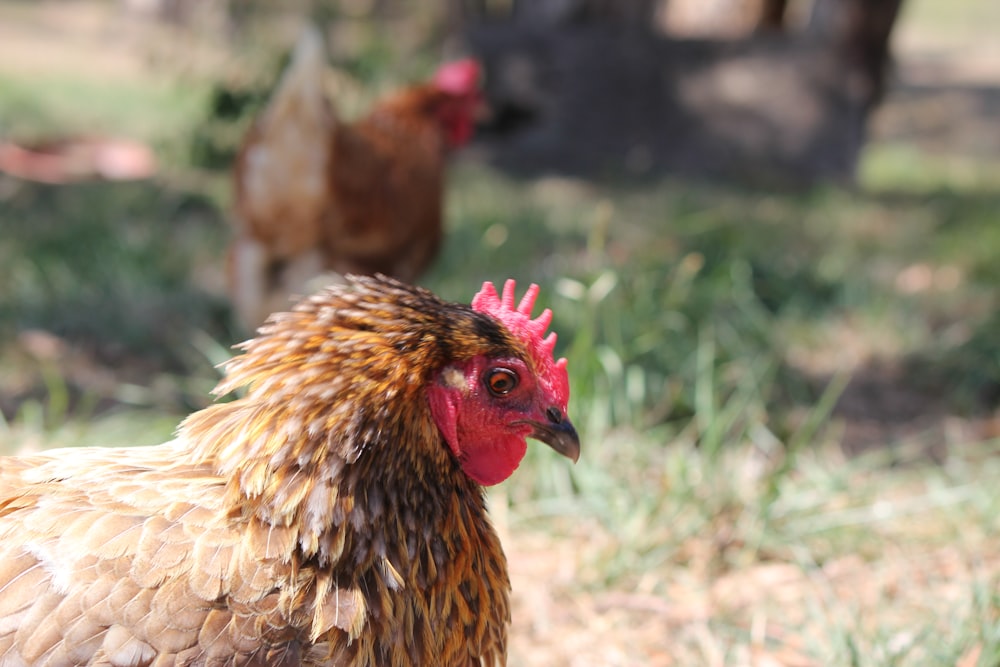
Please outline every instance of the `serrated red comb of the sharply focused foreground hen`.
[{"label": "serrated red comb of the sharply focused foreground hen", "polygon": [[552,311],[546,308],[535,319],[531,311],[538,298],[539,287],[534,283],[521,297],[521,302],[514,307],[514,290],[517,283],[508,280],[503,285],[503,295],[498,295],[496,287],[491,282],[483,283],[483,288],[472,297],[472,309],[492,315],[503,322],[512,334],[520,338],[530,350],[539,375],[547,381],[557,396],[565,402],[569,400],[569,376],[566,373],[566,359],[553,360],[552,353],[556,349],[556,333],[545,335],[552,322]]}]

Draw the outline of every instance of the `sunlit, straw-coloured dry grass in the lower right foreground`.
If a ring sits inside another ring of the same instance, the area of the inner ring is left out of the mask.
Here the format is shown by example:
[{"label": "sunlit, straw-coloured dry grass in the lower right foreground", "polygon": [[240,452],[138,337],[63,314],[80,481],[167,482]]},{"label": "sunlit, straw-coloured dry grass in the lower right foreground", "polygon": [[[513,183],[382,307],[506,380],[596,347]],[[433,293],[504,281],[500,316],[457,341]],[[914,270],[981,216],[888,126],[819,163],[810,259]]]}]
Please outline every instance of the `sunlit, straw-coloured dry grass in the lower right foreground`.
[{"label": "sunlit, straw-coloured dry grass in the lower right foreground", "polygon": [[[732,451],[710,474],[743,486],[746,503],[680,539],[686,494],[668,496],[640,540],[583,517],[515,521],[512,664],[995,664],[998,449],[892,470],[814,451],[766,505],[759,454]],[[637,493],[624,479],[618,491]],[[644,558],[637,543],[665,553]]]}]

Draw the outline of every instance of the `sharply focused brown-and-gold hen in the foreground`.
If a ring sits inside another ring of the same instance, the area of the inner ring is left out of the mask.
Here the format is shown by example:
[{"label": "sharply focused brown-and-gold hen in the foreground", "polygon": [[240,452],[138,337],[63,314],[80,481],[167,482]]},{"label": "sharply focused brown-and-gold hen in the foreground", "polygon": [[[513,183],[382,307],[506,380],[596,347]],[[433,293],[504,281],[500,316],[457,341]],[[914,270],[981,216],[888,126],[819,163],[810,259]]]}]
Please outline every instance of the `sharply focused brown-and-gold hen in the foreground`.
[{"label": "sharply focused brown-and-gold hen in the foreground", "polygon": [[505,664],[483,486],[525,438],[580,451],[537,292],[348,277],[174,440],[0,458],[0,665]]}]

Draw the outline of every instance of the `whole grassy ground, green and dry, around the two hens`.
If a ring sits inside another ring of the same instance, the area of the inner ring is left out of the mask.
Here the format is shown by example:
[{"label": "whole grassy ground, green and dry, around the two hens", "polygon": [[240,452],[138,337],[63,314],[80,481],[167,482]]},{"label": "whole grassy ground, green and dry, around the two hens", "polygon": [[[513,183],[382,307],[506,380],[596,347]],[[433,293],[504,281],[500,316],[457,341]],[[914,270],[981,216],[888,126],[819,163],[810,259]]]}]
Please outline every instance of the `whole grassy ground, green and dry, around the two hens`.
[{"label": "whole grassy ground, green and dry, around the two hens", "polygon": [[[179,148],[208,97],[41,81],[0,72],[0,108],[61,127],[93,100],[174,157],[144,184],[0,177],[0,450],[158,442],[242,335],[225,174]],[[423,282],[541,284],[584,440],[492,493],[512,664],[996,664],[1000,171],[877,144],[856,191],[451,176]],[[873,399],[848,456],[872,368],[934,418]]]}]

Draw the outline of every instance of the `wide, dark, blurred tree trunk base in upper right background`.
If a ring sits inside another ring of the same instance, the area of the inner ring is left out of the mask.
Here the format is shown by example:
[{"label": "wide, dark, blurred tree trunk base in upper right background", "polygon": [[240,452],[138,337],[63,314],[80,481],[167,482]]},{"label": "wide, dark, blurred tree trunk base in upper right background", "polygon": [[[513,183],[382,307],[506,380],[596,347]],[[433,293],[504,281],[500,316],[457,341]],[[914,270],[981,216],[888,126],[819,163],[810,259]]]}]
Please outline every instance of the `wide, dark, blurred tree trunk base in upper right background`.
[{"label": "wide, dark, blurred tree trunk base in upper right background", "polygon": [[[901,4],[812,0],[801,25],[790,10],[804,16],[805,0],[452,0],[451,9],[487,67],[498,164],[800,184],[853,180]],[[667,32],[668,14],[726,25],[728,38]]]}]

